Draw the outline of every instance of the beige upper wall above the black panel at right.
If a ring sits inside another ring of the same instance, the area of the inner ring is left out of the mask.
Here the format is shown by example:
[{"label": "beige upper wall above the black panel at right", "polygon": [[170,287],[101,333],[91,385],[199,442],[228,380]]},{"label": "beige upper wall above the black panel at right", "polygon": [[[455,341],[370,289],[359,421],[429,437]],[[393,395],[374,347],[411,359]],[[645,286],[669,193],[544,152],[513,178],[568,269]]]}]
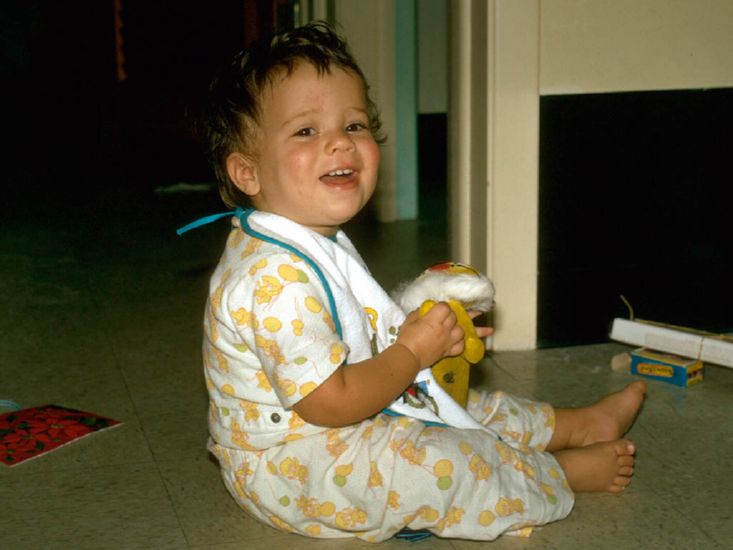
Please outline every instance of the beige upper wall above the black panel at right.
[{"label": "beige upper wall above the black panel at right", "polygon": [[733,86],[731,0],[542,0],[542,94]]}]

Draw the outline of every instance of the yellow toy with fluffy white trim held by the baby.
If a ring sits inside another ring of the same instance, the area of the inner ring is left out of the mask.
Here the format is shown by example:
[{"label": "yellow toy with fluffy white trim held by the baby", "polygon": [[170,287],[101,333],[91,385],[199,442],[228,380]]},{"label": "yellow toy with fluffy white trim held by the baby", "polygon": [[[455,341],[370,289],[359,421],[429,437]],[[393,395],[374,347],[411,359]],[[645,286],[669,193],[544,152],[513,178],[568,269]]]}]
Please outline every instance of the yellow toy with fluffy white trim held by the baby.
[{"label": "yellow toy with fluffy white trim held by the baby", "polygon": [[405,312],[415,309],[425,315],[437,302],[446,302],[463,329],[465,347],[456,357],[445,357],[431,367],[435,380],[462,407],[468,403],[471,365],[484,357],[485,348],[476,335],[467,311],[487,312],[494,299],[494,285],[471,266],[447,262],[426,269],[404,285],[395,296]]}]

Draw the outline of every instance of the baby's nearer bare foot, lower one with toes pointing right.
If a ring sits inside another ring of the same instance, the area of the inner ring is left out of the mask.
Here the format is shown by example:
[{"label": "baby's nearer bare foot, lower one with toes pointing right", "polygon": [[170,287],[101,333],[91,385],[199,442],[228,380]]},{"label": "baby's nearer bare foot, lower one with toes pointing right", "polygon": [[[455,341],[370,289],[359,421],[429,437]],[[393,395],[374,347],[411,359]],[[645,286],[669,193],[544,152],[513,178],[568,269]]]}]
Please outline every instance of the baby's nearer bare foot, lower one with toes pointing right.
[{"label": "baby's nearer bare foot, lower one with toes pointing right", "polygon": [[634,473],[634,444],[628,439],[603,441],[554,453],[575,492],[620,493]]}]

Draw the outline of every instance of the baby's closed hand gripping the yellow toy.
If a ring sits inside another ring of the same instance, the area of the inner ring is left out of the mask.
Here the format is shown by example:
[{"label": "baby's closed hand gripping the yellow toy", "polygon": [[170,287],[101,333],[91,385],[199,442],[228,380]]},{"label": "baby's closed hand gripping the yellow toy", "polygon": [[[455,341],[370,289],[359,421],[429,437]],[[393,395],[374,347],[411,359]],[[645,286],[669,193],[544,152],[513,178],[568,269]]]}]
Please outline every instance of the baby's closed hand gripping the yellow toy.
[{"label": "baby's closed hand gripping the yellow toy", "polygon": [[448,304],[439,302],[422,317],[417,311],[410,313],[397,343],[409,349],[424,369],[443,357],[463,352],[463,329]]}]

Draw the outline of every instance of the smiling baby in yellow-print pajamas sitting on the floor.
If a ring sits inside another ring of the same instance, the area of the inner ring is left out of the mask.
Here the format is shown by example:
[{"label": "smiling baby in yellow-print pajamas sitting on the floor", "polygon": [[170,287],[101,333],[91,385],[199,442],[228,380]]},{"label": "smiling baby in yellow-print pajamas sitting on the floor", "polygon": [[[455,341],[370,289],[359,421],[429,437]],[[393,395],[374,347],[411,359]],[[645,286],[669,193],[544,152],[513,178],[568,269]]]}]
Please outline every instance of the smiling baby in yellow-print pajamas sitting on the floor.
[{"label": "smiling baby in yellow-print pajamas sitting on the floor", "polygon": [[576,491],[623,491],[642,382],[578,409],[472,391],[476,429],[384,412],[464,344],[444,303],[405,315],[340,229],[377,185],[368,90],[323,23],[254,43],[212,83],[209,150],[236,209],[204,322],[227,489],[278,529],[371,542],[492,540],[564,518]]}]

